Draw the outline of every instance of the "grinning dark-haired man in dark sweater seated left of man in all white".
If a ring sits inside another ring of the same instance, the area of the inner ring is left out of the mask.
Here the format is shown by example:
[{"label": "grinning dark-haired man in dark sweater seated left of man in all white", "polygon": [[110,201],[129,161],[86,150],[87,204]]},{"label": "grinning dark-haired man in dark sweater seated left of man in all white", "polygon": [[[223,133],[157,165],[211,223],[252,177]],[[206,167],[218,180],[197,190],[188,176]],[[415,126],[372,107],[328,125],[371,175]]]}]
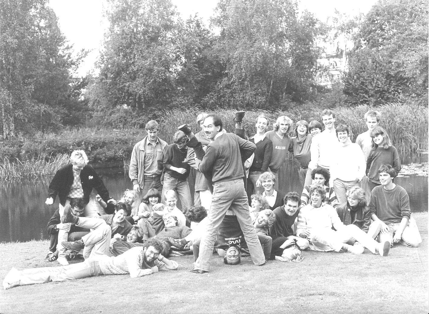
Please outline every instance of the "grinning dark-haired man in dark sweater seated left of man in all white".
[{"label": "grinning dark-haired man in dark sweater seated left of man in all white", "polygon": [[[275,243],[276,249],[281,247],[287,240],[295,240],[300,249],[308,249],[308,242],[295,236],[294,224],[299,214],[301,200],[296,192],[289,192],[283,198],[284,205],[273,210],[276,216],[275,222],[270,228],[270,235]],[[280,240],[278,240],[280,239]],[[290,242],[287,242],[290,243]],[[285,249],[286,246],[283,247]]]}]

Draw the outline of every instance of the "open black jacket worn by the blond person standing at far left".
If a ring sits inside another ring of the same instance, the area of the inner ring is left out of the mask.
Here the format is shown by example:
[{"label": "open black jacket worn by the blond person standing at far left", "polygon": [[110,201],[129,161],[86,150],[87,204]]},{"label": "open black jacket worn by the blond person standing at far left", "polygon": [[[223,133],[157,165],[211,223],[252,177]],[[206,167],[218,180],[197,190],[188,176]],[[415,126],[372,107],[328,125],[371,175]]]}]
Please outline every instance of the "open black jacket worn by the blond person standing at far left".
[{"label": "open black jacket worn by the blond person standing at far left", "polygon": [[[51,197],[55,201],[55,197],[58,195],[58,198],[60,198],[60,204],[64,206],[66,204],[70,188],[72,187],[73,179],[73,165],[71,163],[59,169],[49,184],[48,198]],[[89,196],[91,195],[93,188],[97,190],[98,194],[100,194],[101,198],[103,198],[103,201],[106,203],[111,199],[103,181],[91,166],[86,165],[83,167],[80,173],[80,181],[82,184],[83,200],[85,204],[89,203]]]}]

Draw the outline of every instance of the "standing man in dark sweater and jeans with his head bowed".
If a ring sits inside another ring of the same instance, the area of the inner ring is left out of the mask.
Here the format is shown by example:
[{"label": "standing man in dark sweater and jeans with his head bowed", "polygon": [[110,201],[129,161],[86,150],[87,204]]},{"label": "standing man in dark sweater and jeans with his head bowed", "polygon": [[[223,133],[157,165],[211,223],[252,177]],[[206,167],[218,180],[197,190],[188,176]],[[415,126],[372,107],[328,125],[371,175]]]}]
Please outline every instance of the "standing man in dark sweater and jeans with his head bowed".
[{"label": "standing man in dark sweater and jeans with his head bowed", "polygon": [[163,203],[165,202],[165,193],[168,190],[175,190],[181,203],[182,212],[192,206],[190,198],[189,176],[190,165],[187,163],[187,136],[182,131],[177,131],[173,136],[174,143],[168,145],[164,154],[164,182],[162,189]]}]

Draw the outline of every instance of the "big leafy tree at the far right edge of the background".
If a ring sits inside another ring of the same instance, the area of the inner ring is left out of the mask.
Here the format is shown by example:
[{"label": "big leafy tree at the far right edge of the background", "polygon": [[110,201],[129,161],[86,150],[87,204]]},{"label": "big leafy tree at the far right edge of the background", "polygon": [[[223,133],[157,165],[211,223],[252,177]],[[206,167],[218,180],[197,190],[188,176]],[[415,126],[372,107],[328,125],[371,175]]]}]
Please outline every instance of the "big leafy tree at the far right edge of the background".
[{"label": "big leafy tree at the far right edge of the background", "polygon": [[420,98],[427,104],[428,8],[420,0],[381,0],[360,26],[344,93],[350,104]]}]

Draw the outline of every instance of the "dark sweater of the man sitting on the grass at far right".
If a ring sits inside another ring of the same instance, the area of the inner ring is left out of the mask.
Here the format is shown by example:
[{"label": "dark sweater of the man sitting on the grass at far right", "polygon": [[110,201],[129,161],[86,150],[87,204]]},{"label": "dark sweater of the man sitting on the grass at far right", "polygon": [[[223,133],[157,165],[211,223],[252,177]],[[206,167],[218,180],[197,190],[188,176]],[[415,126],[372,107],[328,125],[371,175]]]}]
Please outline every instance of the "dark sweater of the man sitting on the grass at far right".
[{"label": "dark sweater of the man sitting on the grass at far right", "polygon": [[370,215],[377,215],[386,224],[401,222],[403,217],[411,217],[410,199],[403,187],[396,186],[386,190],[383,186],[375,187],[369,201]]}]

